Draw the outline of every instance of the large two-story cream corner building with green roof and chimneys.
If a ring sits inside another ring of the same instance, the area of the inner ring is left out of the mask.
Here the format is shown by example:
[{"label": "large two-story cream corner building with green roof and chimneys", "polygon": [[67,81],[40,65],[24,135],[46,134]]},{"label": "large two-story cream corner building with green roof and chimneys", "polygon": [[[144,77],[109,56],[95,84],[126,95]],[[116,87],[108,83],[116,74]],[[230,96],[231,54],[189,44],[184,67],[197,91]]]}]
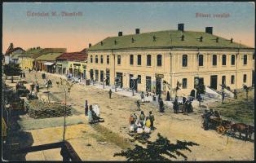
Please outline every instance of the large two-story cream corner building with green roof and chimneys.
[{"label": "large two-story cream corner building with green roof and chimneys", "polygon": [[127,89],[195,95],[195,79],[214,90],[252,86],[254,48],[205,32],[166,30],[107,37],[88,49],[90,78]]}]

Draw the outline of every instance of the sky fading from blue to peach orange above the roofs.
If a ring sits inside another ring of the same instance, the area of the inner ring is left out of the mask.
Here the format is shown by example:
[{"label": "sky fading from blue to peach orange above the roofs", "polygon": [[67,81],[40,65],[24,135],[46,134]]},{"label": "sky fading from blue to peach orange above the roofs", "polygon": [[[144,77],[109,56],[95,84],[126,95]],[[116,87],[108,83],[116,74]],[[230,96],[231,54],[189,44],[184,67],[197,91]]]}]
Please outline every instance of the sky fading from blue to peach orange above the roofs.
[{"label": "sky fading from blue to peach orange above the roofs", "polygon": [[[205,31],[254,47],[255,5],[252,2],[4,2],[2,52],[13,42],[30,47],[65,47],[82,51],[106,37],[177,29]],[[57,15],[52,16],[52,12]],[[62,16],[62,12],[82,15]],[[31,16],[29,13],[49,13]],[[196,17],[196,13],[210,17]],[[223,14],[226,17],[214,17]]]}]

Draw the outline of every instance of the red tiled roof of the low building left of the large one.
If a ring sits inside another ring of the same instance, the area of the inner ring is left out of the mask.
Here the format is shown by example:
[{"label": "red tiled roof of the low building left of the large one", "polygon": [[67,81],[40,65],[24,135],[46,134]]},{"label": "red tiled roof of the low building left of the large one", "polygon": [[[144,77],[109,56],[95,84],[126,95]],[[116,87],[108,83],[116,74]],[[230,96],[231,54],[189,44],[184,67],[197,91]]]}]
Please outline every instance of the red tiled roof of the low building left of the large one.
[{"label": "red tiled roof of the low building left of the large one", "polygon": [[68,60],[68,61],[86,61],[87,54],[82,52],[63,53],[57,60]]}]

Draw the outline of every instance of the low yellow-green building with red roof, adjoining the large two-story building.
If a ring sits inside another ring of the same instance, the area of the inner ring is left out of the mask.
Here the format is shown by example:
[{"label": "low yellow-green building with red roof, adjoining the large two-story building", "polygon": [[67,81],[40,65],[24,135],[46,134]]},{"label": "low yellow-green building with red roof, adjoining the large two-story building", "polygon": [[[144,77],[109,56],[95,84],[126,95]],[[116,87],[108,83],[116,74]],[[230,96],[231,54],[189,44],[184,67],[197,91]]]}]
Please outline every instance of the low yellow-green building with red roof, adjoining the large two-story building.
[{"label": "low yellow-green building with red roof, adjoining the large two-story building", "polygon": [[63,53],[56,58],[56,73],[86,79],[86,49],[79,52]]}]

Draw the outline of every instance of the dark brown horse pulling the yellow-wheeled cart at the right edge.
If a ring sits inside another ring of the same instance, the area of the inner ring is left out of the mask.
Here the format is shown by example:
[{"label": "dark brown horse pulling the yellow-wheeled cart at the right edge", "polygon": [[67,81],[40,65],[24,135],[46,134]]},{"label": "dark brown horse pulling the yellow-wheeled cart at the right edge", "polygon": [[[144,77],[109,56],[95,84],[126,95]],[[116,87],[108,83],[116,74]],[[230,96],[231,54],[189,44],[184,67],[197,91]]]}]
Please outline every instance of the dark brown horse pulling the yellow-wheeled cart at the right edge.
[{"label": "dark brown horse pulling the yellow-wheeled cart at the right edge", "polygon": [[249,126],[244,123],[232,124],[231,129],[234,134],[236,133],[236,131],[238,131],[240,138],[242,133],[245,134],[245,140],[247,140],[248,138],[251,139],[251,136],[254,133],[254,126]]}]

